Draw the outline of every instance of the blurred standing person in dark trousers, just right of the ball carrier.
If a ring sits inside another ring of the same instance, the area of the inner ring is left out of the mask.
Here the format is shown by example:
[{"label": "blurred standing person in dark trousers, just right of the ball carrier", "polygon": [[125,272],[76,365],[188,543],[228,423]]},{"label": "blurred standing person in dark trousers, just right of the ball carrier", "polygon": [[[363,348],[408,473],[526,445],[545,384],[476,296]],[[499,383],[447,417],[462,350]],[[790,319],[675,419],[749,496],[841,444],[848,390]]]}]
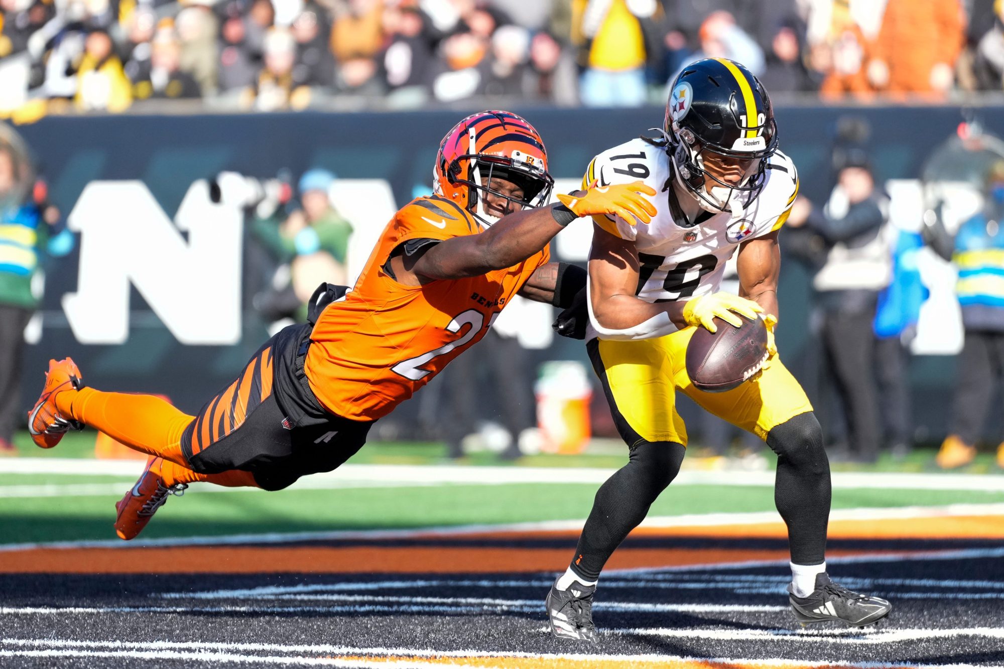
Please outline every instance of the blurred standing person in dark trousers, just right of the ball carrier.
[{"label": "blurred standing person in dark trousers, just right of the ball carrier", "polygon": [[873,321],[878,293],[890,283],[892,256],[886,226],[887,198],[875,187],[862,150],[848,150],[825,208],[799,198],[788,225],[807,226],[825,243],[825,260],[812,285],[822,311],[822,342],[847,413],[847,453],[834,461],[871,463],[878,457],[881,422],[874,368]]}]

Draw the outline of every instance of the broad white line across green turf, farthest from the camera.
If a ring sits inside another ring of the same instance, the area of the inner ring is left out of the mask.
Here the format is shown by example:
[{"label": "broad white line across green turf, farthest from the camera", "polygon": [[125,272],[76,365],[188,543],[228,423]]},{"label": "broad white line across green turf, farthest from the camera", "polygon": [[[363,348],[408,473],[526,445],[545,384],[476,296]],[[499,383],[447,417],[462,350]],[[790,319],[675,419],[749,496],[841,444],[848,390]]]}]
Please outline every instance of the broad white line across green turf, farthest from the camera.
[{"label": "broad white line across green turf, farthest from the camera", "polygon": [[[0,474],[76,474],[137,476],[141,460],[90,458],[4,458]],[[354,480],[394,485],[456,483],[501,485],[509,483],[590,483],[605,481],[612,469],[601,467],[521,467],[474,465],[345,464],[332,472],[312,474],[312,480]],[[924,490],[982,490],[1004,492],[1004,475],[834,472],[834,488],[918,488]],[[703,471],[685,469],[673,485],[773,486],[772,471]],[[293,484],[293,489],[296,484]]]}]

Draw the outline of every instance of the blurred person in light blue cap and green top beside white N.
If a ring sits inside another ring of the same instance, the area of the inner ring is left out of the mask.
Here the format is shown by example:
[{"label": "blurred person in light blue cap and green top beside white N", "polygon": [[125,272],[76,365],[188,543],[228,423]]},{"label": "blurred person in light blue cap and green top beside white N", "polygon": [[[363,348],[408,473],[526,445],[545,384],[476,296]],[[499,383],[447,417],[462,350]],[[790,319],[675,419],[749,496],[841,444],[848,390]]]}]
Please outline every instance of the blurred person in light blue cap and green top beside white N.
[{"label": "blurred person in light blue cap and green top beside white N", "polygon": [[300,207],[284,219],[285,208],[278,202],[259,205],[251,232],[281,263],[270,289],[255,297],[255,306],[270,322],[302,320],[307,299],[318,283],[345,282],[352,225],[331,204],[333,185],[333,174],[313,168],[303,173],[297,185]]}]

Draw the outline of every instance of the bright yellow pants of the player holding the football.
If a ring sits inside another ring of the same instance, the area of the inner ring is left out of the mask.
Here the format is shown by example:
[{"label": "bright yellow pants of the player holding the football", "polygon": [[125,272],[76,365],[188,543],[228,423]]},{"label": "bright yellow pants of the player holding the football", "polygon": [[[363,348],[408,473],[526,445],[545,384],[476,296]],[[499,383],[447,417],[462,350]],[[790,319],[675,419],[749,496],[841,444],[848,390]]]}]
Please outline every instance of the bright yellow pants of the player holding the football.
[{"label": "bright yellow pants of the player holding the football", "polygon": [[603,384],[620,436],[687,445],[687,428],[677,413],[676,391],[733,425],[767,439],[774,427],[812,411],[805,391],[774,357],[768,369],[736,389],[704,393],[687,375],[687,344],[695,327],[636,342],[592,340],[589,359]]}]

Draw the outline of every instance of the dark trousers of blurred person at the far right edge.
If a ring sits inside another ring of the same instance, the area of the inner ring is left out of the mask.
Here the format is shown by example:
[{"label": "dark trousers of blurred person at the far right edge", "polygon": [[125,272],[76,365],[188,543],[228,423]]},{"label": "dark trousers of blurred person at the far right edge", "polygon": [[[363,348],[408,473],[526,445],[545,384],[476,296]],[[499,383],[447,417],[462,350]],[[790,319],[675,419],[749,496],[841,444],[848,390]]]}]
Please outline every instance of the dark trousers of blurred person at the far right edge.
[{"label": "dark trousers of blurred person at the far right edge", "polygon": [[994,389],[1004,377],[1004,332],[966,330],[952,403],[951,432],[973,446],[983,436]]}]

